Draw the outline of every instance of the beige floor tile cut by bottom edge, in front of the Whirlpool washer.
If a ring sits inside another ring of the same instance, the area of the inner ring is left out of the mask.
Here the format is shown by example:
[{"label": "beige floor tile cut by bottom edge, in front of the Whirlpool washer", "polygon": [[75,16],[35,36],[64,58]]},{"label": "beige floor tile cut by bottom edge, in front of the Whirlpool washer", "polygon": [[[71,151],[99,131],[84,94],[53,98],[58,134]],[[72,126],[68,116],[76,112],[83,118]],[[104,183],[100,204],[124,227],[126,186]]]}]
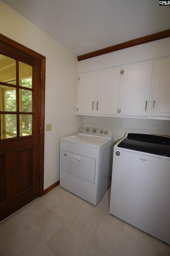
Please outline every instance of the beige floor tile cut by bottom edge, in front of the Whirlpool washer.
[{"label": "beige floor tile cut by bottom edge, in front of the Whirlpool washer", "polygon": [[101,221],[91,241],[112,256],[156,256],[151,247],[105,221]]}]

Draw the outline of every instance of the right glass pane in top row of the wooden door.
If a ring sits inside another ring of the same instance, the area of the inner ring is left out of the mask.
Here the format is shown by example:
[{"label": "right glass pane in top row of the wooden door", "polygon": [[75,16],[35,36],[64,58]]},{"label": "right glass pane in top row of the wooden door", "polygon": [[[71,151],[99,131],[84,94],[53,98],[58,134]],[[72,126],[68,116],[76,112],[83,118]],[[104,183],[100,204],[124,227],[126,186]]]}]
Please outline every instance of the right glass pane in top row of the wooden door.
[{"label": "right glass pane in top row of the wooden door", "polygon": [[32,66],[19,62],[19,85],[32,88]]}]

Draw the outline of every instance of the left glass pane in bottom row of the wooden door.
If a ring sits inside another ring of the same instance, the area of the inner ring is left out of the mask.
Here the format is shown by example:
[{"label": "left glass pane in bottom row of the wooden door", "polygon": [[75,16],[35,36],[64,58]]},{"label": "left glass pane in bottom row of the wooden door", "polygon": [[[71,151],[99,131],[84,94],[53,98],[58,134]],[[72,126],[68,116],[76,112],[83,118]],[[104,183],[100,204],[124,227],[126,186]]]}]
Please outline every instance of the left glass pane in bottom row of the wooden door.
[{"label": "left glass pane in bottom row of the wooden door", "polygon": [[1,114],[1,139],[16,137],[16,114]]}]

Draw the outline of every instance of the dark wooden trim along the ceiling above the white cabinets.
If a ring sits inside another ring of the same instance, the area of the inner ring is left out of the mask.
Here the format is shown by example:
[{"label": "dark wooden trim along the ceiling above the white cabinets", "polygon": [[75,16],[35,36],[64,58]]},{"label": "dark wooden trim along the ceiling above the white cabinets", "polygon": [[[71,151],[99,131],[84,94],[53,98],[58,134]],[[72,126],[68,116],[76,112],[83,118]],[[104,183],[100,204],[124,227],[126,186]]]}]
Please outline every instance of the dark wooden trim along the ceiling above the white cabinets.
[{"label": "dark wooden trim along the ceiling above the white cabinets", "polygon": [[164,30],[162,32],[158,32],[152,35],[147,35],[145,37],[140,37],[140,38],[136,38],[124,43],[120,43],[118,45],[113,45],[113,46],[109,46],[97,51],[92,51],[91,53],[86,53],[80,56],[77,56],[78,61],[82,61],[84,59],[90,59],[99,55],[103,55],[106,53],[111,53],[113,51],[118,51],[118,50],[122,50],[125,48],[129,48],[132,46],[136,46],[136,45],[141,45],[143,43],[148,43],[148,42],[152,42],[152,41],[156,41],[159,39],[163,39],[163,38],[167,38],[170,37],[170,29],[168,30]]}]

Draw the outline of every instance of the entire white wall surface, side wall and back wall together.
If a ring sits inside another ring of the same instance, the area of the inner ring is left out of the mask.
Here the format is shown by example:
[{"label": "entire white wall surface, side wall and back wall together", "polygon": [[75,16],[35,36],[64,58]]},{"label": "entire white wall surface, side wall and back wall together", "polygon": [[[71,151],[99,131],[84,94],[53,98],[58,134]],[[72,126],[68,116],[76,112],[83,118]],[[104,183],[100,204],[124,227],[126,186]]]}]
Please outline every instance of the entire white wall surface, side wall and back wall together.
[{"label": "entire white wall surface, side wall and back wall together", "polygon": [[[0,33],[46,57],[44,189],[59,180],[60,137],[81,126],[112,130],[114,140],[125,132],[170,135],[170,122],[162,120],[76,116],[77,57],[27,19],[0,1]],[[78,72],[123,65],[170,55],[170,38],[80,61]]]}]

